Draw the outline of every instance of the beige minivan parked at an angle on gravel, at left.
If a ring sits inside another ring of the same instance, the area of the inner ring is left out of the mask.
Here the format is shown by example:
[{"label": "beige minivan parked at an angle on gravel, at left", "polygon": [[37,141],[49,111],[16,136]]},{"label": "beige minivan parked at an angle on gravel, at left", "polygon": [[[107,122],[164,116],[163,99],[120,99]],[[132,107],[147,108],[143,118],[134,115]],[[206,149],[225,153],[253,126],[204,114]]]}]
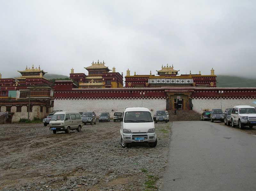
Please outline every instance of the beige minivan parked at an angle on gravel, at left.
[{"label": "beige minivan parked at an angle on gravel, at left", "polygon": [[49,126],[49,130],[52,130],[54,134],[56,134],[57,131],[70,133],[70,130],[81,131],[83,123],[81,115],[78,112],[61,111],[52,115]]}]

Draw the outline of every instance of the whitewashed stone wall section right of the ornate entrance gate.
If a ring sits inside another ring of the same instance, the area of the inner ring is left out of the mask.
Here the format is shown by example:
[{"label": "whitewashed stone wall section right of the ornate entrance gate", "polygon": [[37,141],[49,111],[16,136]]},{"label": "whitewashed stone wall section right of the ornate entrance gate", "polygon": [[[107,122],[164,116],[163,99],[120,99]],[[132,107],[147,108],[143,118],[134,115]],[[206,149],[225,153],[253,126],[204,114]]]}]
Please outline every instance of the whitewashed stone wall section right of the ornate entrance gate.
[{"label": "whitewashed stone wall section right of the ornate entrance gate", "polygon": [[192,99],[193,110],[198,113],[202,113],[205,110],[212,110],[214,108],[220,108],[222,103],[222,110],[226,108],[232,108],[238,105],[248,105],[256,107],[256,99]]}]

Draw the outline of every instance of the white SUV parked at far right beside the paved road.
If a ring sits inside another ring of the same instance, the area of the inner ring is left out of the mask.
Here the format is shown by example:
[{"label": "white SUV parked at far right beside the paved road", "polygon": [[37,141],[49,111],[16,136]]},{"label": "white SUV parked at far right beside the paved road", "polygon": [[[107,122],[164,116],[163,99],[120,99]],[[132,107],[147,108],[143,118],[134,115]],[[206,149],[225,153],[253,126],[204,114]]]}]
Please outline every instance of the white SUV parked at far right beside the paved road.
[{"label": "white SUV parked at far right beside the paved road", "polygon": [[234,106],[231,111],[231,125],[238,125],[239,129],[256,126],[256,109],[251,106]]}]

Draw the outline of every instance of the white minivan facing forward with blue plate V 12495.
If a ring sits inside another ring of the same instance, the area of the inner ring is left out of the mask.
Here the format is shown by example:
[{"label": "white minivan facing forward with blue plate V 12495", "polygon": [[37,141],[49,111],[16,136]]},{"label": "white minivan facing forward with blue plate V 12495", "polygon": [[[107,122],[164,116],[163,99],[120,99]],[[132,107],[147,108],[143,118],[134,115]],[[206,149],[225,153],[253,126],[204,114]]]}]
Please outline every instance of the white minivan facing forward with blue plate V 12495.
[{"label": "white minivan facing forward with blue plate V 12495", "polygon": [[150,147],[156,146],[155,124],[148,108],[126,107],[120,121],[123,148],[133,142],[148,142]]}]

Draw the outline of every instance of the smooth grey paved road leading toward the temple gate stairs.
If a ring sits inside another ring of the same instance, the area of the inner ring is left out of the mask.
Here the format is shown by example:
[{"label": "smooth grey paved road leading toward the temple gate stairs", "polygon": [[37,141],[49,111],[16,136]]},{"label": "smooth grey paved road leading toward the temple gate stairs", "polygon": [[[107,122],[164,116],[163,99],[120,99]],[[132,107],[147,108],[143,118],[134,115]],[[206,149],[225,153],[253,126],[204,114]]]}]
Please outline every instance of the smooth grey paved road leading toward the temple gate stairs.
[{"label": "smooth grey paved road leading toward the temple gate stairs", "polygon": [[256,137],[208,121],[173,122],[161,191],[256,190]]}]

